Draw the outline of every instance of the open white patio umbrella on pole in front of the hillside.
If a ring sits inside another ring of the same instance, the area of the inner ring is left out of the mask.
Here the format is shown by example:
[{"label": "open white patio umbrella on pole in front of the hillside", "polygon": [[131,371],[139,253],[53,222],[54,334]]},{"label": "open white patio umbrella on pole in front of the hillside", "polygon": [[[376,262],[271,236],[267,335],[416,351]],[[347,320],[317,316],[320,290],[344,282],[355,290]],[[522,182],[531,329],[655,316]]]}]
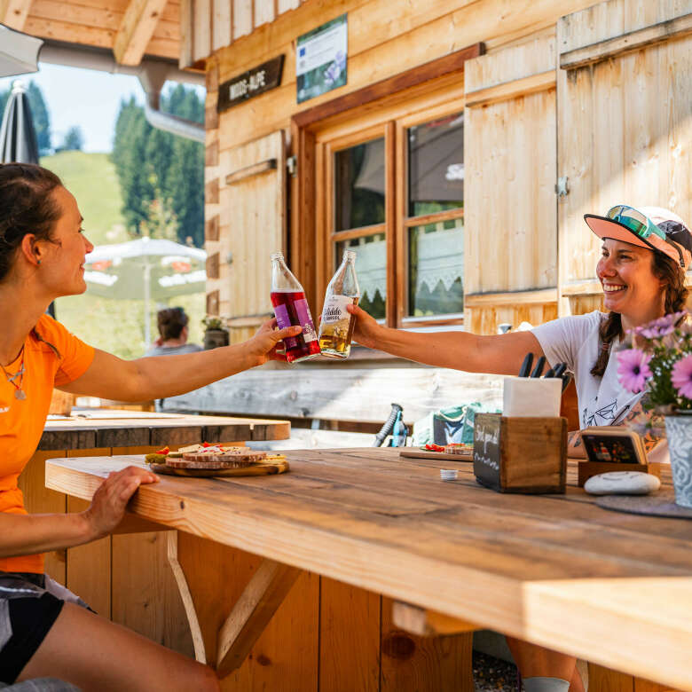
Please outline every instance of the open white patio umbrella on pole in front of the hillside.
[{"label": "open white patio umbrella on pole in front of the hillside", "polygon": [[86,256],[87,293],[105,298],[144,299],[145,344],[151,343],[151,302],[205,289],[207,253],[172,240],[148,237],[101,245]]}]

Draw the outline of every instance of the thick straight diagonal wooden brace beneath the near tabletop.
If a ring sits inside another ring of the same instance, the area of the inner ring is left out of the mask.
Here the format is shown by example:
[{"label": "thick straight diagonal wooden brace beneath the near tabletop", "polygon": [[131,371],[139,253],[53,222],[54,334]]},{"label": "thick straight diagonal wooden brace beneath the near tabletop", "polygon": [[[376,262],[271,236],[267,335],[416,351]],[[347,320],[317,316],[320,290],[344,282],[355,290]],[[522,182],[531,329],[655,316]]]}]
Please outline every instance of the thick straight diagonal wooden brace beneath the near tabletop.
[{"label": "thick straight diagonal wooden brace beneath the near tabletop", "polygon": [[264,559],[218,634],[216,672],[224,678],[242,664],[302,570]]}]

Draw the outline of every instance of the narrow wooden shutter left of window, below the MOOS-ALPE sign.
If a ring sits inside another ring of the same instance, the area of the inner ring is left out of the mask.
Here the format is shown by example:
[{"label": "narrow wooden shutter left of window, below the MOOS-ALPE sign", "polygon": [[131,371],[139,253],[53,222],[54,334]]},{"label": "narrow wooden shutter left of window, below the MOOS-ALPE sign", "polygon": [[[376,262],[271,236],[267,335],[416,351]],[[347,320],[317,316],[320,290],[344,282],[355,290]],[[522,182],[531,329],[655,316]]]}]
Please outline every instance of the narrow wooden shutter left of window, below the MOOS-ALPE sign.
[{"label": "narrow wooden shutter left of window, below the MOOS-ALPE sign", "polygon": [[270,255],[286,250],[284,132],[220,154],[219,311],[229,316],[233,342],[271,317]]}]

